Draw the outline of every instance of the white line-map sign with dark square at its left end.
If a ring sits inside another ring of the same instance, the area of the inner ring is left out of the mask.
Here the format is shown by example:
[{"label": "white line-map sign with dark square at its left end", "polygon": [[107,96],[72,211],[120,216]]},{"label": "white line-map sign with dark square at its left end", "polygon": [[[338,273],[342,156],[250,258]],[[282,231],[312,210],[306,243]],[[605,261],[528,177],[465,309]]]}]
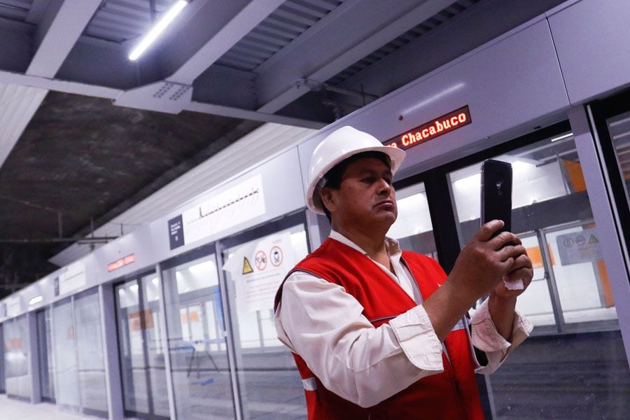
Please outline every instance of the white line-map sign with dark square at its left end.
[{"label": "white line-map sign with dark square at its left end", "polygon": [[169,220],[170,248],[216,235],[262,214],[265,195],[262,176],[258,174]]}]

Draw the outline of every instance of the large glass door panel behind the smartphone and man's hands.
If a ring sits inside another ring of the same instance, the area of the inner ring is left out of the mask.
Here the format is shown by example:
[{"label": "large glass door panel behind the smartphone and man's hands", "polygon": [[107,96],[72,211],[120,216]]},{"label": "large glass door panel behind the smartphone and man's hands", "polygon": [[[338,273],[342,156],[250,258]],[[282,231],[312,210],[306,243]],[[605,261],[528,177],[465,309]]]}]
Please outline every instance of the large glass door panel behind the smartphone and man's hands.
[{"label": "large glass door panel behind the smartphone and man's hands", "polygon": [[[628,361],[573,137],[562,133],[498,160],[512,163],[512,230],[534,266],[517,309],[536,327],[490,376],[496,419],[625,418]],[[479,228],[479,164],[450,176],[467,242]]]}]

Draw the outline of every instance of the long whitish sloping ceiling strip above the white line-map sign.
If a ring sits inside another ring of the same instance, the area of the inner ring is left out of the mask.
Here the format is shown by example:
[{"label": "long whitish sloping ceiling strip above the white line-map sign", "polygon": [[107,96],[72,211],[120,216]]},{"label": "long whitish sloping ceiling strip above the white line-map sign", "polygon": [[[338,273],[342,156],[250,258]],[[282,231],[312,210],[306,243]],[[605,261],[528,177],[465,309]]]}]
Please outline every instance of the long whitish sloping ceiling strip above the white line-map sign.
[{"label": "long whitish sloping ceiling strip above the white line-map sign", "polygon": [[[170,211],[185,206],[186,202],[190,202],[198,195],[218,186],[255,163],[262,162],[274,153],[297,144],[315,131],[274,123],[262,125],[114,218],[110,223],[98,228],[94,231],[94,235],[118,236],[121,224],[125,233],[129,233],[141,225],[151,223]],[[250,153],[254,147],[262,153]],[[73,244],[50,258],[50,262],[64,266],[88,253],[90,253],[89,246]]]}]

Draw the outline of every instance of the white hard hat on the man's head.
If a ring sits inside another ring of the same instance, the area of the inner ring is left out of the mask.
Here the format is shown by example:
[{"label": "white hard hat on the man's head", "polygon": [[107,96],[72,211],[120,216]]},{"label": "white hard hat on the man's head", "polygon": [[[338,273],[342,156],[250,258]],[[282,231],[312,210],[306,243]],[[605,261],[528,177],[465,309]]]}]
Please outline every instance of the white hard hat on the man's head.
[{"label": "white hard hat on the man's head", "polygon": [[405,160],[405,151],[391,146],[383,146],[378,139],[366,132],[346,125],[335,130],[321,141],[313,151],[309,164],[309,188],[307,190],[307,207],[316,214],[324,214],[323,204],[319,196],[323,176],[337,164],[352,155],[363,152],[381,152],[391,160],[391,173],[395,174]]}]

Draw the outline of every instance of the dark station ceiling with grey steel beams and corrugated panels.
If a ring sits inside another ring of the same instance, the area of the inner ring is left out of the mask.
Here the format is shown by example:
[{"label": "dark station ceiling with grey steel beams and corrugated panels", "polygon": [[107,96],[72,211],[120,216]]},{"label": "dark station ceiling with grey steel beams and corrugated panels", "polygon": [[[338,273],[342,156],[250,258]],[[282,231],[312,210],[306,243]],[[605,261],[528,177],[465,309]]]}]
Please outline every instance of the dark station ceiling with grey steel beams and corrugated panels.
[{"label": "dark station ceiling with grey steel beams and corrugated panels", "polygon": [[261,123],[323,127],[561,1],[193,0],[130,61],[173,3],[0,0],[7,290],[54,268],[59,214],[85,235]]}]

